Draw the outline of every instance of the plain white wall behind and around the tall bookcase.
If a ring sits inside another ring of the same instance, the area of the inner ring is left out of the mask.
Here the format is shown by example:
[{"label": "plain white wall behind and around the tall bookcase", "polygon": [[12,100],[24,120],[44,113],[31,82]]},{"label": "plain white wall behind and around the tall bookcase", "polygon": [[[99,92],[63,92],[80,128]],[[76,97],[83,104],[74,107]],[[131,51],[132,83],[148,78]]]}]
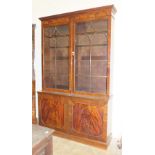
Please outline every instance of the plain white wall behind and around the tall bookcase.
[{"label": "plain white wall behind and around the tall bookcase", "polygon": [[[104,5],[114,4],[118,10],[115,15],[114,26],[114,57],[113,57],[113,109],[112,109],[112,134],[114,137],[121,136],[121,102],[120,102],[120,75],[119,75],[119,60],[121,55],[121,40],[119,37],[121,32],[121,1],[120,0],[33,0],[32,1],[32,23],[36,24],[35,36],[35,70],[36,70],[36,90],[41,90],[41,22],[39,17],[49,16],[64,12],[71,12],[87,8],[93,8]],[[119,38],[119,39],[118,39]]]}]

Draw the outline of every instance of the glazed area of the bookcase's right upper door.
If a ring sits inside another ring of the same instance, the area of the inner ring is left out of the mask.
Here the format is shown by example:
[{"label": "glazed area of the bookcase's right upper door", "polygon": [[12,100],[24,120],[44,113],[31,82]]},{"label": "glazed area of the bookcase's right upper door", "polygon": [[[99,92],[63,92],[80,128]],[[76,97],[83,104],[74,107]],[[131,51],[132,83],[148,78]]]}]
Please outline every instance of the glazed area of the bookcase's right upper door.
[{"label": "glazed area of the bookcase's right upper door", "polygon": [[76,24],[75,90],[105,93],[107,81],[108,21]]}]

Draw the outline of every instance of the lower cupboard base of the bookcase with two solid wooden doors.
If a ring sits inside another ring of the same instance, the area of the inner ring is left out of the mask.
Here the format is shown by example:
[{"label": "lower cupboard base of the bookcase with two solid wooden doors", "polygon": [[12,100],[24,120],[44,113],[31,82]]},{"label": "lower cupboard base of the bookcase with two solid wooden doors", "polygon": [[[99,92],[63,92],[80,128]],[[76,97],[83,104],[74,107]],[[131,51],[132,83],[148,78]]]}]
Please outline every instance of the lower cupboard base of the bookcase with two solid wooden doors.
[{"label": "lower cupboard base of the bookcase with two solid wooden doors", "polygon": [[39,124],[55,129],[58,136],[106,148],[111,137],[108,100],[38,92]]}]

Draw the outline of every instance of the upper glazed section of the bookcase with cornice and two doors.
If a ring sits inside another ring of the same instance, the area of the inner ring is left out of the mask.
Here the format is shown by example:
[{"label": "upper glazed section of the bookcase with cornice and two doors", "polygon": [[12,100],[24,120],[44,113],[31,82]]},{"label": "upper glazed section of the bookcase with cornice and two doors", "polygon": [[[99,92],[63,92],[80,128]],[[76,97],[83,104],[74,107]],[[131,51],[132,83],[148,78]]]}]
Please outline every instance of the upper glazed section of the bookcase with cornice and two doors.
[{"label": "upper glazed section of the bookcase with cornice and two doors", "polygon": [[113,5],[40,18],[44,91],[109,95]]}]

